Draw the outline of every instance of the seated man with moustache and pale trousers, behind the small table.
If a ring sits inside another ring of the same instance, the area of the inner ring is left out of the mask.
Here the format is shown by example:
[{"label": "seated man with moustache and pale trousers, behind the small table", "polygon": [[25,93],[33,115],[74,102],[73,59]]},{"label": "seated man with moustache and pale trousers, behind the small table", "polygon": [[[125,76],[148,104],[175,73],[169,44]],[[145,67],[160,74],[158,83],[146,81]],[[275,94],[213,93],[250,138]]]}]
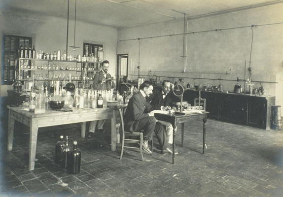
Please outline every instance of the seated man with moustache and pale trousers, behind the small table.
[{"label": "seated man with moustache and pale trousers, behind the small table", "polygon": [[[174,96],[173,92],[171,90],[171,82],[168,80],[164,80],[162,82],[162,87],[161,90],[158,88],[154,88],[153,94],[150,97],[150,105],[151,105],[151,110],[161,110],[163,106],[170,106],[173,107],[176,104],[176,96]],[[173,126],[171,123],[164,122],[164,121],[159,121],[164,127],[165,130],[167,131],[167,138],[168,138],[168,143],[173,144]],[[177,152],[175,154],[178,154]]]}]

